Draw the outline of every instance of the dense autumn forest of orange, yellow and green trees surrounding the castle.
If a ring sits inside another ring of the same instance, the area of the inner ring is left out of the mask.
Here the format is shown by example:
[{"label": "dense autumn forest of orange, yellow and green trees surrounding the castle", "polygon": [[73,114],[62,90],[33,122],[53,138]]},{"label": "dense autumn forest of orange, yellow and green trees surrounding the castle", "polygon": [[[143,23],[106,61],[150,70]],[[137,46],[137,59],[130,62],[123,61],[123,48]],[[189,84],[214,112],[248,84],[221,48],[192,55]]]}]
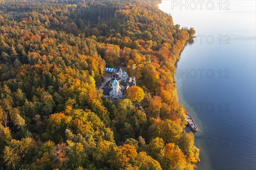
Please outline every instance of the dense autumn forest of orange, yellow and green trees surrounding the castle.
[{"label": "dense autumn forest of orange, yellow and green trees surrounding the castle", "polygon": [[[173,77],[194,29],[174,25],[159,0],[103,2],[0,3],[1,170],[193,170],[200,161]],[[139,88],[114,103],[96,86],[119,63]]]}]

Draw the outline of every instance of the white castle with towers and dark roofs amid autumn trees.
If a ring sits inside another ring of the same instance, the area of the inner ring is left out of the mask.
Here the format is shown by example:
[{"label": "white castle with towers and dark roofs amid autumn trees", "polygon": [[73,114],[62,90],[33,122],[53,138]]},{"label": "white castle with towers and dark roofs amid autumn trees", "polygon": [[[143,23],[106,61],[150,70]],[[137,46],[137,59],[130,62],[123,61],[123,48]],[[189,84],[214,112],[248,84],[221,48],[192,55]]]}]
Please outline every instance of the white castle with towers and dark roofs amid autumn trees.
[{"label": "white castle with towers and dark roofs amid autumn trees", "polygon": [[103,95],[110,100],[119,101],[125,98],[126,90],[131,86],[136,86],[135,77],[129,78],[120,68],[116,74],[113,74],[109,84],[102,88]]}]

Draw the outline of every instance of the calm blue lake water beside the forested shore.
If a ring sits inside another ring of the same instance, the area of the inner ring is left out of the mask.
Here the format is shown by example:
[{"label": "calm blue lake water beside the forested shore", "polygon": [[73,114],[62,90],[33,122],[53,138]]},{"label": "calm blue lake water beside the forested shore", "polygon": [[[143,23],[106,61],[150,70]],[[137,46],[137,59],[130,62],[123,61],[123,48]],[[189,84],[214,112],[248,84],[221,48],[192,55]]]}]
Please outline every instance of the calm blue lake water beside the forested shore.
[{"label": "calm blue lake water beside the forested shore", "polygon": [[180,2],[163,0],[159,8],[196,30],[175,77],[180,103],[199,129],[198,170],[255,170],[256,3],[206,0],[200,9],[198,1]]}]

